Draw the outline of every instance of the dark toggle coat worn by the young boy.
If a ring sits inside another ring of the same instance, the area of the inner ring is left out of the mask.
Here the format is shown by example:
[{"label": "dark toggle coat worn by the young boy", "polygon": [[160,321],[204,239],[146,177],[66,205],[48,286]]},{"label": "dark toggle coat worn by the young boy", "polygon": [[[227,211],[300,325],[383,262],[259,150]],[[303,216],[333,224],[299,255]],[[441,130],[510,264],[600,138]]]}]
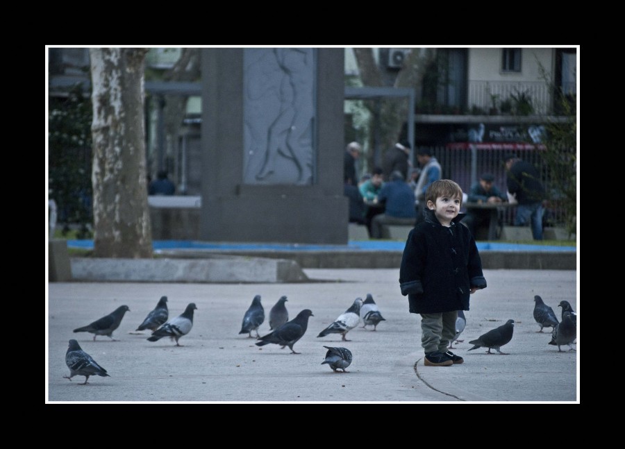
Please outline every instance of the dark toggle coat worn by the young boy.
[{"label": "dark toggle coat worn by the young boy", "polygon": [[475,240],[460,224],[464,215],[458,214],[447,228],[427,210],[425,221],[410,231],[399,269],[410,313],[469,310],[471,287],[486,288]]}]

